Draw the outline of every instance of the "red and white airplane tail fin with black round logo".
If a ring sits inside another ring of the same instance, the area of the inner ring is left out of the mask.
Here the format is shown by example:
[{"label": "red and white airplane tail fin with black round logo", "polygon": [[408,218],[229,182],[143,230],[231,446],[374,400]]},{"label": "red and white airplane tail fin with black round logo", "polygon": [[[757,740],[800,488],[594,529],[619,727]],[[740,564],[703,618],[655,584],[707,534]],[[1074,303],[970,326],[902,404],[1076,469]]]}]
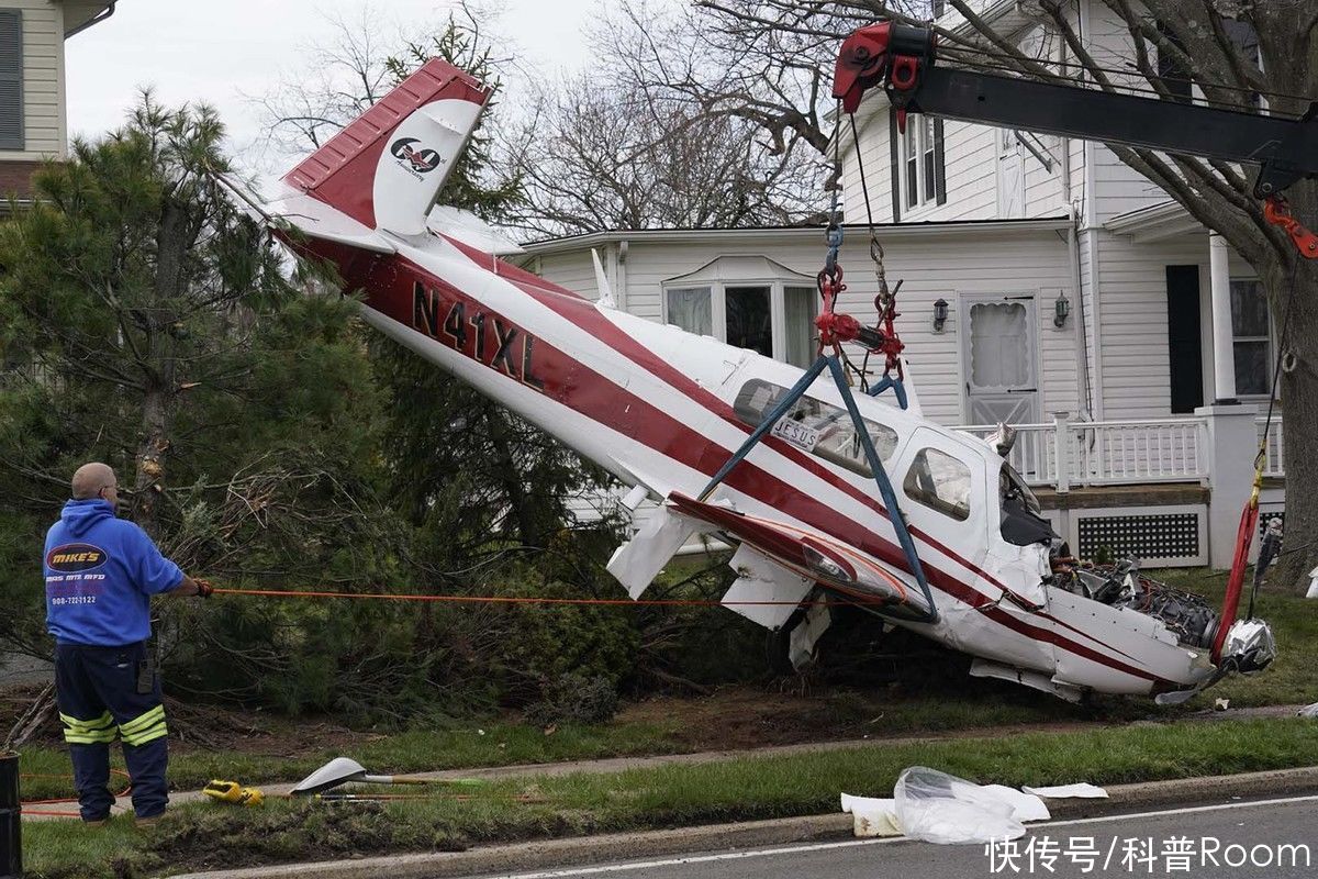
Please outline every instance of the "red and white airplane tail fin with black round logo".
[{"label": "red and white airplane tail fin with black round logo", "polygon": [[426,231],[426,213],[490,90],[432,58],[283,177],[368,229]]}]

